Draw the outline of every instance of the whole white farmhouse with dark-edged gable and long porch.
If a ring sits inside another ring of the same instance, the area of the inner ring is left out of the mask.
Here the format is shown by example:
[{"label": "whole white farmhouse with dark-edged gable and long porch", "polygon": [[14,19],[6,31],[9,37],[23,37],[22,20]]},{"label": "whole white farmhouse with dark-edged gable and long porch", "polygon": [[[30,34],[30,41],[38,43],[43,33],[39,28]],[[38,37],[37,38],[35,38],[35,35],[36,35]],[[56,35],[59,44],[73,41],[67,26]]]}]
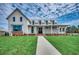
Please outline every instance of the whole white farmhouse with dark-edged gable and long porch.
[{"label": "whole white farmhouse with dark-edged gable and long porch", "polygon": [[7,19],[10,35],[65,34],[68,27],[57,24],[55,20],[30,20],[17,8]]}]

